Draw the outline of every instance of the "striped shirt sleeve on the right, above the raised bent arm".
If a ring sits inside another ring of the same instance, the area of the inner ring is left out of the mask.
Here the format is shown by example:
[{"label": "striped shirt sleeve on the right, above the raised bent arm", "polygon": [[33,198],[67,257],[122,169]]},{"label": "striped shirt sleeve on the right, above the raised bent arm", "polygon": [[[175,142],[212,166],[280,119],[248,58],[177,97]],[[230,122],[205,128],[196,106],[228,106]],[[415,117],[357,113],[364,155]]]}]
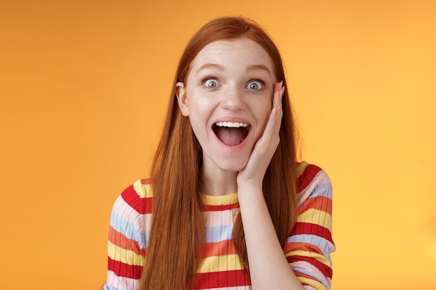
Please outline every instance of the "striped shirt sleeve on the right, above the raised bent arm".
[{"label": "striped shirt sleeve on the right, above the raised bent arm", "polygon": [[317,166],[308,165],[299,177],[299,208],[284,252],[304,289],[332,287],[332,184]]}]

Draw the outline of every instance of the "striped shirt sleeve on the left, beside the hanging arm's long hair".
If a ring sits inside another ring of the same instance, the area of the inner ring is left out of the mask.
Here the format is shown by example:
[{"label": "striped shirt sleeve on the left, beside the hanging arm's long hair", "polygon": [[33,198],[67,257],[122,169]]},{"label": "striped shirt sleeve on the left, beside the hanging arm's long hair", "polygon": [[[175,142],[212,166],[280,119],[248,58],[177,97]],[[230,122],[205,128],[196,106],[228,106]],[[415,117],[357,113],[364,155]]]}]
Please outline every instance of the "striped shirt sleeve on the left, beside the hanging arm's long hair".
[{"label": "striped shirt sleeve on the left, beside the hanging arm's long hair", "polygon": [[146,202],[141,181],[117,198],[109,227],[107,282],[104,290],[137,290],[146,255]]}]

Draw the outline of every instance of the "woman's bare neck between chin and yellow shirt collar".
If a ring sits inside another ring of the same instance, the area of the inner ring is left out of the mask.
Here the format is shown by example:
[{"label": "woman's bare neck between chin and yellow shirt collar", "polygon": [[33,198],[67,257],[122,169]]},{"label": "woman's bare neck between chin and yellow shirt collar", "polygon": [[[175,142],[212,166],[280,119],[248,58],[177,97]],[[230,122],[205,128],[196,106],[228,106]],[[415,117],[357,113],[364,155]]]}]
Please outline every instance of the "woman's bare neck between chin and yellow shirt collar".
[{"label": "woman's bare neck between chin and yellow shirt collar", "polygon": [[238,191],[236,177],[238,177],[238,172],[208,170],[205,166],[201,168],[203,190],[206,195],[229,195],[235,193]]}]

